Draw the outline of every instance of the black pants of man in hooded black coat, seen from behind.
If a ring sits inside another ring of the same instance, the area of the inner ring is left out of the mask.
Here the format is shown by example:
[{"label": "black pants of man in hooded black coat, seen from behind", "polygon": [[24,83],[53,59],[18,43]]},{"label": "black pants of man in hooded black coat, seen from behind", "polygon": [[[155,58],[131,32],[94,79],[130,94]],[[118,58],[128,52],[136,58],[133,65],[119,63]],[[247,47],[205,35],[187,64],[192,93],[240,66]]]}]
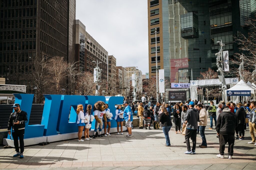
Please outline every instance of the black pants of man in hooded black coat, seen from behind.
[{"label": "black pants of man in hooded black coat, seen from behind", "polygon": [[235,137],[234,135],[219,135],[219,143],[220,143],[220,154],[224,155],[225,145],[228,143],[228,155],[233,156]]}]

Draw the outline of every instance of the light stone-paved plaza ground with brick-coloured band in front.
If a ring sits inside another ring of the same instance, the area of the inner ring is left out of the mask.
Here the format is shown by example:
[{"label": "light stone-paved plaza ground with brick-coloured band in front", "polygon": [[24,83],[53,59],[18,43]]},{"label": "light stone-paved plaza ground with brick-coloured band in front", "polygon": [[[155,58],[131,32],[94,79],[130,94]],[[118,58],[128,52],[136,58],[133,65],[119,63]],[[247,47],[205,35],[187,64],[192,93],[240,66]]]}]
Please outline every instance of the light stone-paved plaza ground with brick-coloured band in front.
[{"label": "light stone-paved plaza ground with brick-coloured band in front", "polygon": [[[36,169],[252,169],[256,165],[256,146],[249,129],[246,140],[235,140],[232,160],[217,158],[219,151],[216,131],[206,127],[208,148],[199,148],[197,136],[195,155],[186,155],[184,135],[170,130],[171,147],[164,146],[162,130],[133,129],[133,137],[113,133],[111,137],[78,142],[77,139],[53,142],[49,145],[26,146],[24,158],[13,158],[14,149],[0,149],[0,168]],[[191,143],[192,145],[192,143]]]}]

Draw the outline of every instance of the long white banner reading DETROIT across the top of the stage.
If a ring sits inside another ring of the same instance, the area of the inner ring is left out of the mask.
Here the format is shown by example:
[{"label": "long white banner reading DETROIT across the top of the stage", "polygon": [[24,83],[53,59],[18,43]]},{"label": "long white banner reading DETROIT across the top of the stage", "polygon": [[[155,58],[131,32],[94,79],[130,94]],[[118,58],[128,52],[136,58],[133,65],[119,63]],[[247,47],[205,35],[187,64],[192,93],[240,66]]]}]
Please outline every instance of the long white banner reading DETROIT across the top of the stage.
[{"label": "long white banner reading DETROIT across the top of the stage", "polygon": [[[237,84],[238,78],[225,78],[226,84]],[[210,80],[191,80],[190,81],[190,87],[191,86],[206,86],[206,85],[221,85],[222,82],[217,79],[210,79]]]}]

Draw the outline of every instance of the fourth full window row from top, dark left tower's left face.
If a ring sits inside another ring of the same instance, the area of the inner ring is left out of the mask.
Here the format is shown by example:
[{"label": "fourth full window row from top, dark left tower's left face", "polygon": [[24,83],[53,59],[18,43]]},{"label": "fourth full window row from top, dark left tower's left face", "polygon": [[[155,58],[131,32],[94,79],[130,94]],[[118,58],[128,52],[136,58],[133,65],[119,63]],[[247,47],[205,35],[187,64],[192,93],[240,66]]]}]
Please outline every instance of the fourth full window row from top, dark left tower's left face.
[{"label": "fourth full window row from top, dark left tower's left face", "polygon": [[0,51],[35,50],[36,41],[0,42]]}]

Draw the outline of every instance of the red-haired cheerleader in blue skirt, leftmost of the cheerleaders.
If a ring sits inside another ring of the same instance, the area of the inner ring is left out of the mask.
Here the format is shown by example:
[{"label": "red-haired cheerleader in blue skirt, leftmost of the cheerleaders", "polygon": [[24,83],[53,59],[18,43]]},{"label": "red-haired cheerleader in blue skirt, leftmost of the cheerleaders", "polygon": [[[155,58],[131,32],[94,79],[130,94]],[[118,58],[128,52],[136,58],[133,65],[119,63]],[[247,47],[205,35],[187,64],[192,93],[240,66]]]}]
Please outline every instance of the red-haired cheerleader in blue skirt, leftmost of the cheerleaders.
[{"label": "red-haired cheerleader in blue skirt, leftmost of the cheerleaders", "polygon": [[83,105],[77,105],[77,126],[78,126],[78,142],[83,142],[82,140],[82,133],[83,133],[83,128],[85,126],[84,123],[84,113],[83,113]]}]

